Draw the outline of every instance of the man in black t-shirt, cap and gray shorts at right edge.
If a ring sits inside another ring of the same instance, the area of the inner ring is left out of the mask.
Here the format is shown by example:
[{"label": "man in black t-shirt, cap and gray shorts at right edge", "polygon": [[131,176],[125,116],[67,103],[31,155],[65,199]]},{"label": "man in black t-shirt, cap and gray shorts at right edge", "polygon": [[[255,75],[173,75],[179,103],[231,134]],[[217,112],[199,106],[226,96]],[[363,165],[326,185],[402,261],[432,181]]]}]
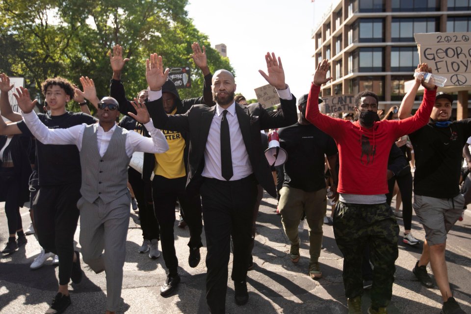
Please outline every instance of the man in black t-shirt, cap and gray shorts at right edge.
[{"label": "man in black t-shirt, cap and gray shorts at right edge", "polygon": [[[418,83],[404,97],[399,108],[400,119],[410,116],[417,89]],[[430,262],[444,302],[442,313],[462,314],[465,312],[450,289],[445,248],[446,235],[464,206],[459,180],[463,146],[471,136],[471,119],[451,121],[452,103],[451,95],[437,93],[430,122],[409,134],[416,159],[413,207],[425,230],[422,255],[413,272],[423,286],[433,287],[426,269]]]}]

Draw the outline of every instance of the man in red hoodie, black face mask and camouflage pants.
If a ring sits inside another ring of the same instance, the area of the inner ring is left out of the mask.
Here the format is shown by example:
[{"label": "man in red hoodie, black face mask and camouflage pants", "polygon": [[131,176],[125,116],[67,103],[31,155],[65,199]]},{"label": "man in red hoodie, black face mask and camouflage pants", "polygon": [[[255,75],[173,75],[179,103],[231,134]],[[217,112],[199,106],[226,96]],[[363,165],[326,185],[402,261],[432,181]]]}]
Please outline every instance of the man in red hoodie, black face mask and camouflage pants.
[{"label": "man in red hoodie, black face mask and camouflage pants", "polygon": [[361,314],[363,294],[362,257],[365,245],[374,266],[371,307],[368,314],[387,313],[398,256],[399,227],[386,204],[388,156],[394,141],[428,123],[435,103],[436,86],[422,82],[424,97],[417,113],[405,120],[379,121],[378,96],[364,91],[355,97],[358,121],[351,123],[321,114],[320,86],[330,68],[327,60],[318,64],[308,96],[306,118],[334,138],[339,150],[340,193],[334,215],[334,235],[343,254],[343,285],[350,314]]}]

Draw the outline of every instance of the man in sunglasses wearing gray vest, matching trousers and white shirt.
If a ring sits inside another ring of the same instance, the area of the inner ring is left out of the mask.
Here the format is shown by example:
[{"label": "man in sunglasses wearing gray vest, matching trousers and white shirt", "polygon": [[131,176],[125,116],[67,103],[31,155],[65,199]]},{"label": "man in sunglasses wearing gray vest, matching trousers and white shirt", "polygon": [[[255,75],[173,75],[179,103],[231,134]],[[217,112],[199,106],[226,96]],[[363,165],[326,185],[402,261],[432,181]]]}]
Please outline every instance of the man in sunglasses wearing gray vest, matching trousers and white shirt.
[{"label": "man in sunglasses wearing gray vest, matching trousers and white shirt", "polygon": [[129,114],[146,127],[151,138],[116,125],[119,105],[114,98],[105,97],[98,103],[99,124],[52,130],[32,111],[36,101],[31,102],[27,89],[17,89],[17,92],[26,125],[36,139],[44,144],[75,144],[80,151],[82,197],[77,207],[80,210],[81,252],[83,261],[93,271],[105,270],[106,314],[114,314],[121,297],[126,257],[131,205],[127,187],[129,162],[133,152],[156,154],[167,151],[165,136],[154,128],[145,105],[136,99],[133,105],[137,115]]}]

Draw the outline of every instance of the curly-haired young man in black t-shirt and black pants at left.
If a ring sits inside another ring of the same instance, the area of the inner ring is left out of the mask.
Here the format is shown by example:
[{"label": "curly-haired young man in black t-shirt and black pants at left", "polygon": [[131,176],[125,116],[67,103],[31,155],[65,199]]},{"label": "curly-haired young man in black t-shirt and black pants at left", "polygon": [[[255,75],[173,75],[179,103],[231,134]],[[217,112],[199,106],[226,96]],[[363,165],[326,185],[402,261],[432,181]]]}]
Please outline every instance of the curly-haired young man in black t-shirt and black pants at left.
[{"label": "curly-haired young man in black t-shirt and black pants at left", "polygon": [[[94,124],[96,119],[81,112],[65,109],[75,90],[64,78],[43,82],[42,92],[51,113],[39,113],[39,119],[50,129],[66,129],[80,124]],[[35,101],[36,102],[36,101]],[[2,106],[2,112],[7,110]],[[11,110],[11,107],[10,107]],[[5,125],[0,119],[1,134],[31,134],[24,121]],[[59,288],[47,314],[62,313],[71,304],[68,284],[81,281],[78,252],[74,252],[80,198],[80,158],[75,145],[36,145],[36,169],[39,192],[34,199],[34,221],[41,246],[59,256]]]}]

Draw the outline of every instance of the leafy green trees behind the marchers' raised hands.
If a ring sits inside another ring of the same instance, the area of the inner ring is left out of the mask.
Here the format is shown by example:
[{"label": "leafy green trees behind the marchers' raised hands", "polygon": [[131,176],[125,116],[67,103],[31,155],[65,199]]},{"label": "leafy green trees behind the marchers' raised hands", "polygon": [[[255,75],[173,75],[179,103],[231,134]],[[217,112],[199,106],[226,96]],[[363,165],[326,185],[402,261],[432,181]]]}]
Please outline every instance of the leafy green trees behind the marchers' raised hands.
[{"label": "leafy green trees behind the marchers' raised hands", "polygon": [[[229,59],[210,48],[208,37],[187,17],[187,0],[0,0],[0,72],[26,78],[36,86],[62,76],[79,86],[78,78],[93,78],[99,97],[109,94],[108,51],[119,44],[131,60],[123,83],[131,98],[147,86],[145,60],[163,56],[164,66],[189,66],[192,87],[182,98],[198,97],[201,71],[190,57],[194,41],[206,46],[211,71],[234,71]],[[25,10],[27,8],[27,10]],[[34,89],[34,88],[33,88]]]}]

